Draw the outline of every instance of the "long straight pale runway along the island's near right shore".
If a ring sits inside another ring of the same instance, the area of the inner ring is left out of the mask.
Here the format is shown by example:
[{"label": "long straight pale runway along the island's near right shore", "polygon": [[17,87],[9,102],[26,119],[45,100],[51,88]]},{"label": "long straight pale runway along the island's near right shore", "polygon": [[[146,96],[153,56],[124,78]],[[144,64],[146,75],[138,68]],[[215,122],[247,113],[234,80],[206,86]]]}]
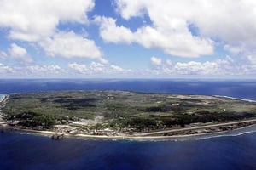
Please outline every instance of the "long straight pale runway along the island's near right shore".
[{"label": "long straight pale runway along the island's near right shore", "polygon": [[243,123],[243,122],[256,122],[256,119],[236,121],[236,122],[223,122],[223,123],[198,126],[198,127],[177,128],[177,129],[163,130],[163,131],[152,132],[152,133],[135,133],[133,135],[134,136],[149,136],[149,135],[162,134],[162,133],[176,133],[176,132],[183,132],[183,131],[187,131],[187,130],[198,130],[198,129],[204,129],[204,128],[210,128],[210,127],[222,127],[222,126],[234,125],[234,124]]}]

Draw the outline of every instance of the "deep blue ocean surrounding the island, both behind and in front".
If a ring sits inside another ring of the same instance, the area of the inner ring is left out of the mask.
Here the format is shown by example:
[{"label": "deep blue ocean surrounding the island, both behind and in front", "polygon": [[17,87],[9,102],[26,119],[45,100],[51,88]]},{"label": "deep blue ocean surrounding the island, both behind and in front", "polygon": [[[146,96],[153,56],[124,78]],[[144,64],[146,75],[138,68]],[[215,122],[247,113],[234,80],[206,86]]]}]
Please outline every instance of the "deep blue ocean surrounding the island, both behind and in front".
[{"label": "deep blue ocean surrounding the island, both behind and in front", "polygon": [[[256,81],[0,80],[0,94],[56,90],[129,90],[224,95],[256,100]],[[0,132],[0,169],[256,169],[256,126],[166,140],[66,138]]]}]

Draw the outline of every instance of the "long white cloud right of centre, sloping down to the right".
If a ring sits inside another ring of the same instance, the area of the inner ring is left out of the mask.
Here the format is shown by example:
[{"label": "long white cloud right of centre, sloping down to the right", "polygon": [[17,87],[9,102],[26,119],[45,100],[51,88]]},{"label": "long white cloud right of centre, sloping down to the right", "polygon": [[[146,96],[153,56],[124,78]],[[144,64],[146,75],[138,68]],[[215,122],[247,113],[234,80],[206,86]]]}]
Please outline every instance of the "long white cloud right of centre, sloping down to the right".
[{"label": "long white cloud right of centre, sloping down to the right", "polygon": [[[193,37],[188,29],[177,32],[172,28],[164,30],[159,26],[143,26],[132,32],[124,26],[116,26],[116,20],[103,18],[100,35],[105,42],[137,42],[145,48],[160,48],[166,54],[183,57],[199,57],[201,54],[212,54],[212,41],[208,38]],[[185,22],[183,23],[185,25]]]}]

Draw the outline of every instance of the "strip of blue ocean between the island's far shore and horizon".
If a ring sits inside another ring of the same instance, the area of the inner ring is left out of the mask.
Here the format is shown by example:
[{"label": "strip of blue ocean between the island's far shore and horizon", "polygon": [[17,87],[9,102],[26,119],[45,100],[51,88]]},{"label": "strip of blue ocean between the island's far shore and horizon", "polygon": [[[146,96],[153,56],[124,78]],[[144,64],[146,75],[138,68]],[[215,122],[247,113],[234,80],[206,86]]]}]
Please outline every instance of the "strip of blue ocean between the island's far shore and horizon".
[{"label": "strip of blue ocean between the island's far shore and horizon", "polygon": [[55,90],[129,90],[147,93],[226,95],[256,99],[256,81],[71,79],[0,80],[0,94]]}]

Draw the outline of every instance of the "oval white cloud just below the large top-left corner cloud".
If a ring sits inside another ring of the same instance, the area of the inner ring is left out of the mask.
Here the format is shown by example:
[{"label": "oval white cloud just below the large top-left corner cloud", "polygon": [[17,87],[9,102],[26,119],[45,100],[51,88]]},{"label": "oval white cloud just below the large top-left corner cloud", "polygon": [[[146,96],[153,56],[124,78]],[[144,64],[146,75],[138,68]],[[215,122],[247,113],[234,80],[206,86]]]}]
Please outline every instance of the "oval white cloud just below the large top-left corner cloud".
[{"label": "oval white cloud just below the large top-left corner cloud", "polygon": [[94,41],[80,37],[73,31],[59,32],[55,36],[40,42],[42,48],[50,56],[65,58],[90,58],[102,59],[102,52]]}]

